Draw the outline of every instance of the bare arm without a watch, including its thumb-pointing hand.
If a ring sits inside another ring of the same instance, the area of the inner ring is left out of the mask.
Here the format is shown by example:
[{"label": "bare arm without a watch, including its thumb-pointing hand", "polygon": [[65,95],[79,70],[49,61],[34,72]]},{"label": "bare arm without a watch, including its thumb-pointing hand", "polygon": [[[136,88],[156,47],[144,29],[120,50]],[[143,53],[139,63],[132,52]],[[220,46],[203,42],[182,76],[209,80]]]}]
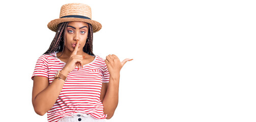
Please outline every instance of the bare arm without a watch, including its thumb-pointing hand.
[{"label": "bare arm without a watch, including its thumb-pointing hand", "polygon": [[124,64],[130,60],[132,59],[125,59],[123,62],[120,62],[116,55],[106,56],[105,63],[110,76],[109,83],[103,84],[102,86],[104,89],[106,89],[102,104],[104,107],[103,112],[107,114],[107,119],[113,116],[118,106],[120,70]]}]

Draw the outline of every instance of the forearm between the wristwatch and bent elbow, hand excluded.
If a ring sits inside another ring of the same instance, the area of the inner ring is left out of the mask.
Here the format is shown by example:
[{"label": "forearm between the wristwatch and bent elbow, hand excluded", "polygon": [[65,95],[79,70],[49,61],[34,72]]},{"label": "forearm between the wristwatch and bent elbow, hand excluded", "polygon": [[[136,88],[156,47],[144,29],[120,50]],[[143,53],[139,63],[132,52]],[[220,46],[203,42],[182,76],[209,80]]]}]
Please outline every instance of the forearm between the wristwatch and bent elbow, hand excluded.
[{"label": "forearm between the wristwatch and bent elbow, hand excluded", "polygon": [[33,100],[33,106],[37,114],[44,115],[56,102],[65,81],[56,78],[51,84],[40,92]]}]

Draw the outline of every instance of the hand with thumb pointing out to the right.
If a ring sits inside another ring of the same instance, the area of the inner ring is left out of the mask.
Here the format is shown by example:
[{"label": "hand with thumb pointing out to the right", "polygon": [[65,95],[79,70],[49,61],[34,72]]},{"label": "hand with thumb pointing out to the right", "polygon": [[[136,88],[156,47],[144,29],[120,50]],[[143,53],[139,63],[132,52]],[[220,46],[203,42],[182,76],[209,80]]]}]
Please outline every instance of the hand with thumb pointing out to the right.
[{"label": "hand with thumb pointing out to the right", "polygon": [[106,56],[105,63],[107,65],[107,69],[110,75],[119,74],[122,67],[126,62],[131,61],[133,59],[126,58],[122,62],[120,62],[117,55],[108,55]]}]

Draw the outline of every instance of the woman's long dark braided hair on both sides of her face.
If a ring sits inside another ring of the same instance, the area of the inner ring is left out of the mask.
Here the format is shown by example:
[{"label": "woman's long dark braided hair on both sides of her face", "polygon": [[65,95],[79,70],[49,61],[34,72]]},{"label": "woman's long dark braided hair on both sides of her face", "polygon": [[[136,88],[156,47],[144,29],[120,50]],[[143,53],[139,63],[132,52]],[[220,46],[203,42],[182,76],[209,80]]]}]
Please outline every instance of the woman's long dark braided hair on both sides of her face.
[{"label": "woman's long dark braided hair on both sides of her face", "polygon": [[[53,52],[60,52],[64,50],[67,25],[68,25],[68,22],[62,22],[58,25],[58,29],[56,31],[55,37],[53,38],[49,49],[44,54],[50,54]],[[93,53],[93,26],[89,23],[88,25],[89,25],[89,32],[87,36],[88,39],[87,39],[86,45],[84,45],[84,47],[82,48],[82,51],[86,52],[87,54],[95,56]]]}]

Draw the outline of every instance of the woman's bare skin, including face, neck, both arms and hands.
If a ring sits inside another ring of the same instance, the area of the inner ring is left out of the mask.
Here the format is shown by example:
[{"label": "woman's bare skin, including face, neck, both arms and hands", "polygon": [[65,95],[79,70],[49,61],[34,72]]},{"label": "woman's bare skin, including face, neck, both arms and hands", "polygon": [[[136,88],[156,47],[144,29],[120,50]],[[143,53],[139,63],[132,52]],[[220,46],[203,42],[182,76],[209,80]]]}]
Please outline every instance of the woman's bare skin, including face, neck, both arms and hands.
[{"label": "woman's bare skin, including face, neck, both arms and hands", "polygon": [[[61,73],[68,76],[69,72],[75,67],[82,68],[83,65],[89,64],[94,60],[91,56],[82,51],[83,46],[86,44],[89,26],[86,22],[69,22],[66,29],[66,42],[65,48],[62,52],[58,52],[66,66]],[[120,62],[118,56],[112,54],[107,55],[105,63],[109,72],[109,83],[103,83],[101,88],[100,100],[103,104],[103,112],[107,114],[107,119],[111,118],[118,105],[119,97],[119,79],[120,71],[124,64],[132,59],[124,59]],[[32,92],[32,103],[34,110],[39,115],[44,115],[49,109],[52,108],[58,99],[65,81],[56,78],[49,85],[48,78],[42,76],[34,77],[34,85]]]}]

